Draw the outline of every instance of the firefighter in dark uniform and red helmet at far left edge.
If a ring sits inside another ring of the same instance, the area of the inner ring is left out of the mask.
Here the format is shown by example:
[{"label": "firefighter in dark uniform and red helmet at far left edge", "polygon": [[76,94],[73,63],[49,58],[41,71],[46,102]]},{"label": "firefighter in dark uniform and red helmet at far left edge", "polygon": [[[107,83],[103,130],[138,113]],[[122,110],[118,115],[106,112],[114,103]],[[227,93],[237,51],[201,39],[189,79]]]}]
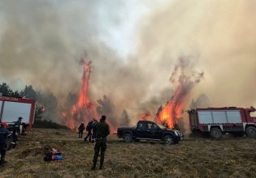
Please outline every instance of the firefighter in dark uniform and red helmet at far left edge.
[{"label": "firefighter in dark uniform and red helmet at far left edge", "polygon": [[7,152],[7,138],[9,138],[11,134],[6,127],[7,123],[2,122],[0,125],[0,166],[2,166],[4,163],[7,163],[7,161],[5,161],[5,156]]}]

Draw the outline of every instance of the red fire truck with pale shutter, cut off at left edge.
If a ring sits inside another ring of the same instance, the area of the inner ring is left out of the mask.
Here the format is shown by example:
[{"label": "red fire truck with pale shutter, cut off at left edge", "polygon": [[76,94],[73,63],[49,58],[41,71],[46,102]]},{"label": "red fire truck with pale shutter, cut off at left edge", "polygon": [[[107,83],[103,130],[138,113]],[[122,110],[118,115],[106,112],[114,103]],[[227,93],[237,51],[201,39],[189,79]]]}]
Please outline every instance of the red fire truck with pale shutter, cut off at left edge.
[{"label": "red fire truck with pale shutter, cut off at left edge", "polygon": [[20,132],[32,129],[35,116],[36,101],[25,98],[0,96],[0,121],[5,121],[11,129],[15,121],[22,117]]}]

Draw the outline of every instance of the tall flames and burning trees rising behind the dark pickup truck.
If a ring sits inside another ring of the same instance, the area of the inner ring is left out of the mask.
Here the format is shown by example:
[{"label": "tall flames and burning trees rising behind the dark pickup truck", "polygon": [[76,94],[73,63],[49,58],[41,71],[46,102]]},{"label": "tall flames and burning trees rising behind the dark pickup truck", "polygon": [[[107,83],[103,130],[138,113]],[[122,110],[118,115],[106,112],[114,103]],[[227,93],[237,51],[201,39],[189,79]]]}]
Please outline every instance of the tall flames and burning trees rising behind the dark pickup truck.
[{"label": "tall flames and burning trees rising behind the dark pickup truck", "polygon": [[[141,113],[140,119],[160,122],[171,129],[184,129],[182,118],[184,107],[189,102],[189,93],[197,83],[200,83],[203,76],[203,72],[195,70],[190,57],[179,57],[169,78],[171,90],[165,91],[167,94],[162,93],[162,97],[146,104],[147,106],[143,107],[145,112]],[[159,102],[163,103],[164,100],[167,100],[167,103],[159,107]],[[158,104],[158,112],[154,114],[152,112],[154,107],[151,106],[156,104]]]}]

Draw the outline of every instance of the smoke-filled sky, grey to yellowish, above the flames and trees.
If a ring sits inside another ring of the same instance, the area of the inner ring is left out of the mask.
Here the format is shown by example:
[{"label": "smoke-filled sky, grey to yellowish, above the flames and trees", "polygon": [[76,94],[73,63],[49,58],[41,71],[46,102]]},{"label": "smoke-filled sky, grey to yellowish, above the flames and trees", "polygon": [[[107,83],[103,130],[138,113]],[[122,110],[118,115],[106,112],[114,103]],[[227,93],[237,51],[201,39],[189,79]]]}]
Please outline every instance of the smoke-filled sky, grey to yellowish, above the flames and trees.
[{"label": "smoke-filled sky, grey to yellowish, above the flames and trees", "polygon": [[248,107],[256,104],[255,8],[242,0],[1,0],[0,79],[64,103],[79,93],[86,57],[91,100],[106,95],[118,116],[125,109],[133,120],[169,100],[169,78],[184,55],[204,72],[188,105],[204,93],[213,107]]}]

